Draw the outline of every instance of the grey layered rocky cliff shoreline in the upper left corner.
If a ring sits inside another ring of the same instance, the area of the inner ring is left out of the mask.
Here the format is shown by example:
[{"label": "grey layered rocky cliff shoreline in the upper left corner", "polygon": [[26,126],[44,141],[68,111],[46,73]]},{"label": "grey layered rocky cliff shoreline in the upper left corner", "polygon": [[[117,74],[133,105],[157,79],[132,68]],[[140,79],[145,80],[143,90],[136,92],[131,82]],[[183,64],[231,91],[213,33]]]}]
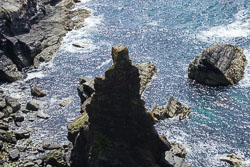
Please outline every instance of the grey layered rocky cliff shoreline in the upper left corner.
[{"label": "grey layered rocky cliff shoreline in the upper left corner", "polygon": [[0,81],[18,80],[24,67],[52,58],[67,31],[81,27],[89,15],[73,7],[72,0],[0,2]]}]

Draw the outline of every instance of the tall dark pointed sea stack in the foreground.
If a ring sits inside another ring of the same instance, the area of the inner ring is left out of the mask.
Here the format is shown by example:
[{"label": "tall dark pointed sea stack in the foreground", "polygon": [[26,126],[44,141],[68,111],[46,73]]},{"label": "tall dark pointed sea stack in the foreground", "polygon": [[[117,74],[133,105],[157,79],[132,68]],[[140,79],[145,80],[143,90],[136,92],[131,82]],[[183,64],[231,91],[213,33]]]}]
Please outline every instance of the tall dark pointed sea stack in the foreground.
[{"label": "tall dark pointed sea stack in the foreground", "polygon": [[128,49],[112,48],[114,64],[95,78],[95,93],[86,105],[89,125],[74,141],[72,167],[168,167],[169,146],[158,136],[140,96],[138,68]]}]

